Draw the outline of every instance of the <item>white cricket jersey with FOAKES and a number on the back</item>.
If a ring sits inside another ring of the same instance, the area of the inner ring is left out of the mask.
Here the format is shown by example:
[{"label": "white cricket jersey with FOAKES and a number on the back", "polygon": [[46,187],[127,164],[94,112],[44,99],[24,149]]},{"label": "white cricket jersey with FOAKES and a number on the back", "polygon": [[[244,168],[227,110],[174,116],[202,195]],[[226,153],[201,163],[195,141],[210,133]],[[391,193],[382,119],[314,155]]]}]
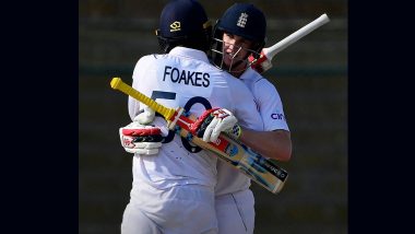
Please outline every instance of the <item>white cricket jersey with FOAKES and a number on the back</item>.
[{"label": "white cricket jersey with FOAKES and a number on the back", "polygon": [[[176,47],[167,55],[142,57],[134,68],[132,86],[170,108],[185,107],[190,100],[197,100],[190,109],[195,116],[205,110],[200,103],[208,101],[211,107],[229,109],[242,126],[262,125],[261,116],[252,112],[256,109],[253,96],[244,82],[212,66],[200,50]],[[139,104],[129,97],[131,119],[143,108]],[[153,124],[165,126],[165,120],[156,117]],[[134,155],[133,185],[144,182],[165,189],[195,184],[213,189],[216,161],[217,157],[206,151],[191,153],[175,134],[170,142],[163,144],[158,155]]]}]

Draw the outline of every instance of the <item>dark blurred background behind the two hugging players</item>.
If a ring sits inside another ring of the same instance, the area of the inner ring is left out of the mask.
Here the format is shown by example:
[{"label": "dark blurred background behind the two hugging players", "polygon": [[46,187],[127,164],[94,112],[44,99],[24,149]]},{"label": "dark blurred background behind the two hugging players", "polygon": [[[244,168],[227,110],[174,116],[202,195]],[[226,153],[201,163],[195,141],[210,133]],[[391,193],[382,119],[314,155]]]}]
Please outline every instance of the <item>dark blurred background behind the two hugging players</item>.
[{"label": "dark blurred background behind the two hugging players", "polygon": [[[167,1],[79,1],[79,233],[119,233],[131,189],[132,157],[118,128],[130,122],[127,96],[144,55],[158,52],[154,30]],[[235,1],[203,0],[214,22]],[[250,1],[268,17],[268,44],[327,13],[331,22],[280,52],[264,75],[276,86],[293,139],[278,195],[252,183],[256,234],[347,233],[347,1]]]}]

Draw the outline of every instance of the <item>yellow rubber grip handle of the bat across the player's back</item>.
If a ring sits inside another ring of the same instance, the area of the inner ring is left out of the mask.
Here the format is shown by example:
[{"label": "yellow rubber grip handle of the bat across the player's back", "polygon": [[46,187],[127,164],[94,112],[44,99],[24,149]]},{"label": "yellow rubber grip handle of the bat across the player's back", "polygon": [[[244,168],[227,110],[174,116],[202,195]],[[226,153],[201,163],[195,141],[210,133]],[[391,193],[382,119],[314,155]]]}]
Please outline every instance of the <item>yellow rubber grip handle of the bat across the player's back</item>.
[{"label": "yellow rubber grip handle of the bat across the player's back", "polygon": [[175,115],[174,108],[167,108],[167,107],[156,103],[154,100],[145,96],[144,94],[134,90],[132,86],[126,84],[121,80],[121,78],[112,78],[110,85],[114,90],[119,90],[122,93],[130,95],[130,96],[134,97],[135,100],[140,101],[141,103],[147,105],[150,108],[154,109],[155,112],[162,114],[166,120],[170,120],[171,117]]}]

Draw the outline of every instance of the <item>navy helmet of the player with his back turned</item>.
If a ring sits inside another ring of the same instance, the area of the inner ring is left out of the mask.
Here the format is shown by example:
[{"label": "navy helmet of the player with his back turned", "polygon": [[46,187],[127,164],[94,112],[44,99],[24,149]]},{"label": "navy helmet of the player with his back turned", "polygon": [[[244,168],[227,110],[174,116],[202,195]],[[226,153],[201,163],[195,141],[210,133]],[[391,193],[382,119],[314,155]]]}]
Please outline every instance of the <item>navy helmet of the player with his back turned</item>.
[{"label": "navy helmet of the player with his back turned", "polygon": [[176,46],[208,51],[212,26],[200,2],[170,0],[162,11],[156,36],[164,52]]}]

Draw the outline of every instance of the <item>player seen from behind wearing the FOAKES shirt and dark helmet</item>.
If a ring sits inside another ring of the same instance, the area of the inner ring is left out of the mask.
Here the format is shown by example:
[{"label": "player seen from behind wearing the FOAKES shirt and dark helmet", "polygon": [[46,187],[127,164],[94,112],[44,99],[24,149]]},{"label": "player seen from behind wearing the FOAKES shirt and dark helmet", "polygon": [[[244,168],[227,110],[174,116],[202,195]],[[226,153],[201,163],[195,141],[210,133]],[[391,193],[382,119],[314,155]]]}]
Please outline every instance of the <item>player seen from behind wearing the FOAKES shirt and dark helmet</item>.
[{"label": "player seen from behind wearing the FOAKES shirt and dark helmet", "polygon": [[[202,116],[203,125],[197,131],[205,139],[213,140],[222,131],[238,138],[240,131],[230,132],[237,122],[233,114],[242,127],[262,127],[261,116],[252,112],[256,104],[248,87],[209,62],[205,51],[211,27],[198,1],[169,1],[161,14],[157,38],[166,54],[138,61],[132,82],[135,90],[164,106],[185,107],[187,113]],[[161,137],[166,121],[155,117],[153,126],[146,125],[154,112],[132,97],[129,114],[133,122],[120,128],[120,138],[124,149],[134,153],[133,183],[121,233],[217,233],[217,157],[174,131]]]}]

